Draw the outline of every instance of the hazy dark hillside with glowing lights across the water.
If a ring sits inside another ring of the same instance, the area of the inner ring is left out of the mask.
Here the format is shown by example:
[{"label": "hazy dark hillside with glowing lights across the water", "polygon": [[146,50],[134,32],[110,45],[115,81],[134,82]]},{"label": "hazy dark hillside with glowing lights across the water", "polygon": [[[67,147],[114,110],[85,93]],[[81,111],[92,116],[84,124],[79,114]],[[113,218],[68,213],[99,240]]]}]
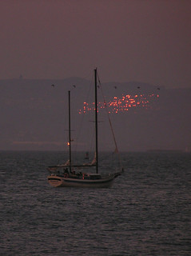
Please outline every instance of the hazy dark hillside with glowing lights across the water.
[{"label": "hazy dark hillside with glowing lights across the water", "polygon": [[[104,94],[108,102],[121,150],[190,148],[190,89],[167,90],[143,82],[108,82],[101,88],[98,94]],[[94,81],[82,78],[0,80],[0,90],[0,150],[66,150],[68,90],[74,137],[79,123],[92,114],[94,107],[94,98],[90,96]],[[102,113],[104,101],[100,97],[98,107]],[[109,125],[102,122],[102,114],[101,118],[101,149],[110,150],[112,145],[103,142]],[[93,119],[94,116],[89,117],[89,121]],[[90,122],[86,129],[88,125]],[[81,132],[80,150],[86,150],[85,142],[90,140],[86,129]]]}]

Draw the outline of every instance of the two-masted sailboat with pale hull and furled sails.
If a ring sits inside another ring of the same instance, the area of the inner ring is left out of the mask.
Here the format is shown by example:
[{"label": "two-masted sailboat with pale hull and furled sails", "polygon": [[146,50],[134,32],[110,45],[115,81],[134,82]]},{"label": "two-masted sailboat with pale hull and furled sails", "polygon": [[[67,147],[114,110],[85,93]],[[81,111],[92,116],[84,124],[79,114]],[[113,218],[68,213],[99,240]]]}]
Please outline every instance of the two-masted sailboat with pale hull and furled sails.
[{"label": "two-masted sailboat with pale hull and furled sails", "polygon": [[[74,165],[71,153],[71,136],[70,136],[70,91],[69,97],[69,155],[70,159],[63,165],[49,166],[50,175],[47,177],[48,182],[54,187],[79,187],[79,188],[108,188],[113,185],[117,176],[121,175],[123,169],[109,174],[100,174],[98,165],[98,138],[97,138],[97,69],[94,70],[94,87],[95,87],[95,156],[90,163]],[[94,167],[95,173],[88,173],[88,168]],[[83,169],[83,171],[79,171]]]}]

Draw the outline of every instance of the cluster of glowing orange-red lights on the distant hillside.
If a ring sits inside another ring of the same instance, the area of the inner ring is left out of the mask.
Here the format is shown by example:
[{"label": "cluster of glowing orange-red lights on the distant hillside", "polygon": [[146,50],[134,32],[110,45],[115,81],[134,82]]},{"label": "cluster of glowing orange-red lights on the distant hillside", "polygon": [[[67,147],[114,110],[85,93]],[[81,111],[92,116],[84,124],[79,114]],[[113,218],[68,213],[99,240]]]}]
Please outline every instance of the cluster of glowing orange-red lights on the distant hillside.
[{"label": "cluster of glowing orange-red lights on the distant hillside", "polygon": [[[137,107],[150,108],[151,103],[159,98],[159,94],[122,94],[121,97],[113,97],[113,100],[105,103],[98,102],[97,103],[97,111],[104,109],[107,106],[109,113],[117,114],[118,112],[126,112],[130,109]],[[86,114],[89,111],[95,110],[95,103],[84,102],[82,110],[79,110],[79,114]]]}]

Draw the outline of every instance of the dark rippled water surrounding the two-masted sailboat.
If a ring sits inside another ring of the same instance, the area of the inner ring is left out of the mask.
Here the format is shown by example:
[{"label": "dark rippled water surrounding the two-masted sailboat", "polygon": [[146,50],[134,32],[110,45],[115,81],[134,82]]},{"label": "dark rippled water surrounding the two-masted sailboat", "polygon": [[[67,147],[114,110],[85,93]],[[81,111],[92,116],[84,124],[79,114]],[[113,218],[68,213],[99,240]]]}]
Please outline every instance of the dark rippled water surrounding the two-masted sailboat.
[{"label": "dark rippled water surrounding the two-masted sailboat", "polygon": [[61,153],[1,152],[1,255],[191,255],[191,155],[122,154],[110,189],[50,187]]}]

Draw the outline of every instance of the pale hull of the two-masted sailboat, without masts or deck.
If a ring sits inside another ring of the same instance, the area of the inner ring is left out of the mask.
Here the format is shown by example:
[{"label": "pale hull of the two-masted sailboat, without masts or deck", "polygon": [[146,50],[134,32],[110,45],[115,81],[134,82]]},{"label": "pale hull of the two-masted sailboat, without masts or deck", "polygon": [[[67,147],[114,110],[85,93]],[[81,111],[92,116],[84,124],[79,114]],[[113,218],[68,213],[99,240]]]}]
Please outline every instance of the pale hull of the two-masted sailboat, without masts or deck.
[{"label": "pale hull of the two-masted sailboat, without masts or deck", "polygon": [[48,182],[54,187],[108,188],[112,186],[114,178],[115,176],[113,174],[97,180],[64,178],[57,175],[50,175],[48,176]]}]

